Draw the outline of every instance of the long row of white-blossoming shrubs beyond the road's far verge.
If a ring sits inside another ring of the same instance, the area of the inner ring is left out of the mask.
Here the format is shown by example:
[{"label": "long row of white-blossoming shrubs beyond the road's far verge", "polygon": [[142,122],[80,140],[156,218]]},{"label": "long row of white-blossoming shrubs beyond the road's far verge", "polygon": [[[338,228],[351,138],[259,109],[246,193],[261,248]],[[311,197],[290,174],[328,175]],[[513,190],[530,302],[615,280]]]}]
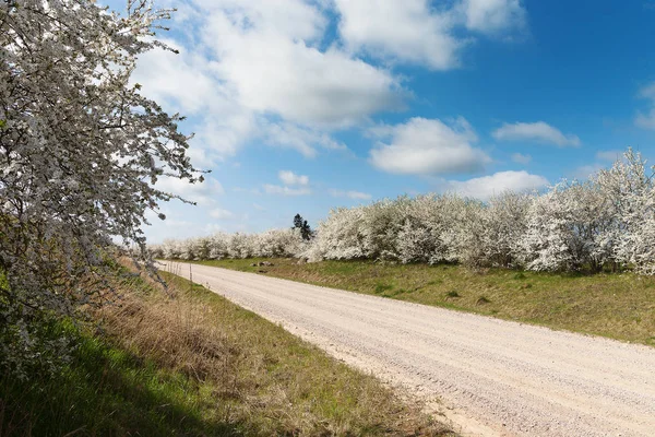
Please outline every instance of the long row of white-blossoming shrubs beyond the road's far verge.
[{"label": "long row of white-blossoming shrubs beyond the road's far verge", "polygon": [[[219,257],[275,253],[264,249],[263,236],[212,238],[206,239],[210,250]],[[165,256],[203,258],[198,249],[179,248],[184,244],[202,246],[199,240],[169,243]],[[431,194],[340,208],[319,224],[309,244],[291,245],[281,253],[310,261],[445,261],[477,268],[607,268],[655,274],[652,169],[628,150],[623,160],[587,181],[562,181],[541,194],[504,192],[487,202]]]}]

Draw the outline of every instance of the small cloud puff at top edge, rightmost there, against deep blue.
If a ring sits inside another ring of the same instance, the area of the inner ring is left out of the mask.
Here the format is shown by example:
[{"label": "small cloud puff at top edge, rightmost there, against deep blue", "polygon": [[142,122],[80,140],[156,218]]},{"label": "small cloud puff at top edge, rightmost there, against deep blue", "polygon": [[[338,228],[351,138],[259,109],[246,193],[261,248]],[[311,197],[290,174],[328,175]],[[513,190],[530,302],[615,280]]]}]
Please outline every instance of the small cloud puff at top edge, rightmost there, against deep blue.
[{"label": "small cloud puff at top edge, rightmost there, against deep blue", "polygon": [[498,34],[512,28],[523,28],[526,12],[521,0],[464,0],[466,27],[484,34]]}]

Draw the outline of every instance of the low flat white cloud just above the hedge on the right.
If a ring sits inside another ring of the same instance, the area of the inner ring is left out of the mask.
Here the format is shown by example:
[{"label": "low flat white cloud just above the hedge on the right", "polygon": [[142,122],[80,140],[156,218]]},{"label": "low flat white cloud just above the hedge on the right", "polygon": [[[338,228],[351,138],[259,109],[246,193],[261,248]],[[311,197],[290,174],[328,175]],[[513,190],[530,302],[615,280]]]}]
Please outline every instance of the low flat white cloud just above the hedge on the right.
[{"label": "low flat white cloud just above the hedge on the right", "polygon": [[449,180],[446,187],[450,191],[465,197],[488,200],[503,191],[529,191],[548,185],[548,179],[538,175],[522,172],[499,172],[490,176],[468,179],[465,181]]}]

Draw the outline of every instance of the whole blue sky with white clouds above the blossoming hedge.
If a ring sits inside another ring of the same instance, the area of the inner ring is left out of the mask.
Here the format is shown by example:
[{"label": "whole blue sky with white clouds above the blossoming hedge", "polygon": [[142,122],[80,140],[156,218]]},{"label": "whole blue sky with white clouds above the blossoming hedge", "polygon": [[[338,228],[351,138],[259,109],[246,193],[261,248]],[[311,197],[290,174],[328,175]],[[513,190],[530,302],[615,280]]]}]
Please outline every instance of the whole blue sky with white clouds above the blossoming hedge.
[{"label": "whole blue sky with white clouds above the blossoming hedge", "polygon": [[[159,3],[163,7],[171,3]],[[655,1],[188,0],[134,81],[207,182],[151,241],[315,225],[400,194],[487,199],[655,158]]]}]

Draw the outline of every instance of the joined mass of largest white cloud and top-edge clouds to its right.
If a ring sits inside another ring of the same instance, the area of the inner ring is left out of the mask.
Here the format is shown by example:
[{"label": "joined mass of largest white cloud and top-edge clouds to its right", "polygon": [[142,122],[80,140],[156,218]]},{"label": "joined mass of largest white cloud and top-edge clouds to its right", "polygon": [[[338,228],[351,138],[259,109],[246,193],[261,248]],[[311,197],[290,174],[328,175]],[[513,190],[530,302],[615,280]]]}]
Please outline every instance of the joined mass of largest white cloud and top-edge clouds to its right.
[{"label": "joined mass of largest white cloud and top-edge clouds to its right", "polygon": [[[172,4],[172,2],[170,3]],[[335,129],[404,108],[403,80],[370,57],[444,70],[471,32],[513,28],[517,0],[190,0],[174,20],[180,51],[144,54],[134,80],[191,116],[191,153],[212,165],[253,141],[313,157],[344,150]],[[331,20],[338,26],[332,40]],[[330,43],[330,44],[326,44]],[[378,56],[380,55],[380,56]]]}]

